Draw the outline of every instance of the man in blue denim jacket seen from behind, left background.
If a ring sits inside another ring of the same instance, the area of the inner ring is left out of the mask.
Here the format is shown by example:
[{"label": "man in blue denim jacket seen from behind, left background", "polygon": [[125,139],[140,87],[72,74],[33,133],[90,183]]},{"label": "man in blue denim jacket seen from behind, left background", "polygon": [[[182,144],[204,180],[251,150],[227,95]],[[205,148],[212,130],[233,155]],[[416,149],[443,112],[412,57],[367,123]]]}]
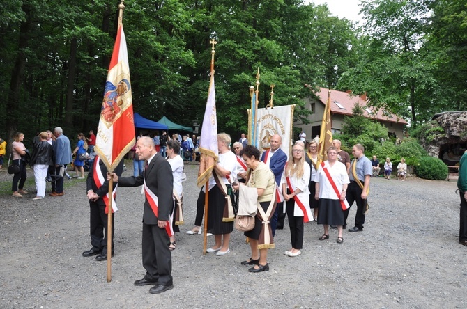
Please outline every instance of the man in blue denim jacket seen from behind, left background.
[{"label": "man in blue denim jacket seen from behind, left background", "polygon": [[56,127],[54,129],[54,135],[56,137],[54,147],[54,157],[55,157],[55,177],[54,181],[56,182],[56,191],[52,191],[50,196],[63,196],[63,175],[60,174],[61,166],[66,166],[70,164],[73,159],[71,156],[71,145],[68,137],[63,135],[63,129],[61,127]]}]

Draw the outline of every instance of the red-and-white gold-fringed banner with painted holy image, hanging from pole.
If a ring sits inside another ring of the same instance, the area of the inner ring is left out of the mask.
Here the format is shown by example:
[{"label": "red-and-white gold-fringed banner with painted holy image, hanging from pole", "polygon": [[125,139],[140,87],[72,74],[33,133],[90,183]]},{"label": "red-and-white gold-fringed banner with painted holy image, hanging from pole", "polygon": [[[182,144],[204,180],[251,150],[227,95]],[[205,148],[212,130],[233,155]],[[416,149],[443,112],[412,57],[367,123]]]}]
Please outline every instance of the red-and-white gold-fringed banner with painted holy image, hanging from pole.
[{"label": "red-and-white gold-fringed banner with painted holy image, hanging from pole", "polygon": [[95,152],[110,172],[115,170],[123,156],[135,145],[131,91],[125,33],[120,23],[95,138]]}]

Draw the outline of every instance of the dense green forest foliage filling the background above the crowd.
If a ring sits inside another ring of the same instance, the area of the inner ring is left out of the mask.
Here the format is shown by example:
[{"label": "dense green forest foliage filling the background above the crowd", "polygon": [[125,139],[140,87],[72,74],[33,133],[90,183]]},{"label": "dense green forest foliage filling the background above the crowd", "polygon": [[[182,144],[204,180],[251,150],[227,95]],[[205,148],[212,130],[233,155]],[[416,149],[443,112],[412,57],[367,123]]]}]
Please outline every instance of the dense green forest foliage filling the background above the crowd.
[{"label": "dense green forest foliage filling the background above the crowd", "polygon": [[[0,3],[0,136],[98,125],[119,1]],[[211,39],[219,132],[247,129],[249,87],[259,106],[297,104],[305,84],[364,93],[417,125],[466,109],[465,0],[365,0],[364,24],[302,0],[127,0],[123,26],[135,112],[182,125],[201,122]]]}]

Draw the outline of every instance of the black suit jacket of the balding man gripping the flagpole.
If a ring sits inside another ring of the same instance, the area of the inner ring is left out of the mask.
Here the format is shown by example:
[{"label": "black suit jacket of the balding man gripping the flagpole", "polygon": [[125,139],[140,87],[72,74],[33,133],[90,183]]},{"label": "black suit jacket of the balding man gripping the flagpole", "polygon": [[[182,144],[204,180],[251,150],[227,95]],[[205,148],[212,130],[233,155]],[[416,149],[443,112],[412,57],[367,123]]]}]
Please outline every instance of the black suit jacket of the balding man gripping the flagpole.
[{"label": "black suit jacket of the balding man gripping the flagpole", "polygon": [[[174,176],[169,162],[159,153],[155,154],[155,157],[144,171],[144,177],[148,188],[158,197],[158,216],[155,216],[146,198],[144,201],[143,222],[149,225],[157,225],[158,220],[168,221],[174,207],[174,200],[172,199]],[[118,185],[121,187],[138,187],[143,184],[143,175],[118,178]]]}]

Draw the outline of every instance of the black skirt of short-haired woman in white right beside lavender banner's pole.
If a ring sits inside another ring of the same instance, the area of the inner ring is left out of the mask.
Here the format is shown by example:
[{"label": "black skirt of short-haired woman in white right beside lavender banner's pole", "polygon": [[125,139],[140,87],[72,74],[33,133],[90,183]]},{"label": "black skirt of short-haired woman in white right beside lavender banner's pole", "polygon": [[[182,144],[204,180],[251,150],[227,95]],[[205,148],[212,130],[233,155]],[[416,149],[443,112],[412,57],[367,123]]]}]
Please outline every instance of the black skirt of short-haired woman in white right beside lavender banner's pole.
[{"label": "black skirt of short-haired woman in white right beside lavender banner's pole", "polygon": [[208,203],[208,232],[214,235],[231,233],[234,230],[234,221],[222,222],[225,197],[217,185],[209,190]]}]

